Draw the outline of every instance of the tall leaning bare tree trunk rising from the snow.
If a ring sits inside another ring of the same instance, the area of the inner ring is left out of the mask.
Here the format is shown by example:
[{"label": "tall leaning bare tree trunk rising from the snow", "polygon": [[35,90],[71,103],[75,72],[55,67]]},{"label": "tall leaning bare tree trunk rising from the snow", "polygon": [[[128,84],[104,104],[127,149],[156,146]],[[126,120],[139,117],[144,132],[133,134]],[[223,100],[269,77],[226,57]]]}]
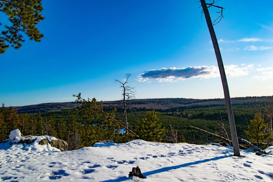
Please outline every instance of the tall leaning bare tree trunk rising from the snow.
[{"label": "tall leaning bare tree trunk rising from the snow", "polygon": [[205,14],[208,28],[210,31],[210,37],[211,37],[211,40],[213,43],[213,47],[214,47],[214,51],[215,51],[216,59],[218,62],[218,67],[219,67],[221,79],[222,79],[224,96],[225,96],[225,103],[226,103],[226,107],[227,107],[227,116],[228,116],[228,120],[229,120],[229,124],[230,124],[230,133],[231,133],[234,156],[240,156],[239,142],[238,142],[236,127],[235,127],[235,120],[234,120],[234,115],[233,115],[233,111],[232,111],[230,93],[229,93],[228,85],[227,85],[227,77],[225,75],[225,69],[224,69],[224,65],[223,65],[223,60],[222,60],[220,48],[218,45],[216,34],[214,32],[214,28],[212,25],[212,21],[210,18],[210,13],[209,13],[207,4],[206,4],[205,0],[200,0],[200,1],[201,1],[201,5],[203,8],[204,14]]}]

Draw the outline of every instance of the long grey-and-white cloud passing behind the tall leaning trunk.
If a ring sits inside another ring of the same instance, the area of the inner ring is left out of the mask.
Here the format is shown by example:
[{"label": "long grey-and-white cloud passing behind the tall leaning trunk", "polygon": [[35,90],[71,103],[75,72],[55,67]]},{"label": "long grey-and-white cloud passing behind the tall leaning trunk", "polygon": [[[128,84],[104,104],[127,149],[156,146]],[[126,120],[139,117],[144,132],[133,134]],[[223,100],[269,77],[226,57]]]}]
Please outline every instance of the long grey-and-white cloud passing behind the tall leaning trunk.
[{"label": "long grey-and-white cloud passing behind the tall leaning trunk", "polygon": [[[227,77],[239,77],[248,75],[248,69],[253,68],[253,65],[239,67],[238,65],[225,66]],[[209,79],[219,77],[219,69],[216,66],[194,66],[188,68],[162,68],[160,70],[149,70],[139,74],[137,81],[144,82],[149,79],[155,79],[159,82],[175,82],[178,80],[200,78]]]}]

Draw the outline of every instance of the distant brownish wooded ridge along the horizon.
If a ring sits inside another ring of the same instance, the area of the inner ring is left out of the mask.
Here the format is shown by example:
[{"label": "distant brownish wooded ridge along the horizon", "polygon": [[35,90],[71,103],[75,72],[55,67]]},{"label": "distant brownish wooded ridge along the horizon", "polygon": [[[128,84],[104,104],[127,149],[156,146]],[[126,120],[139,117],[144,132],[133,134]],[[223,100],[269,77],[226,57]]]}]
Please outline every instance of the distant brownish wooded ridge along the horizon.
[{"label": "distant brownish wooded ridge along the horizon", "polygon": [[[232,105],[253,105],[263,103],[270,100],[273,103],[273,96],[263,97],[235,97],[231,99]],[[185,99],[185,98],[165,98],[165,99],[133,99],[127,101],[131,108],[135,110],[151,110],[156,109],[162,112],[175,111],[177,109],[191,109],[200,107],[223,106],[225,105],[224,99]],[[37,112],[53,112],[65,109],[77,108],[76,102],[55,102],[55,103],[42,103],[36,105],[26,105],[14,107],[18,113],[37,113]],[[104,110],[112,110],[119,108],[118,101],[104,101]]]}]

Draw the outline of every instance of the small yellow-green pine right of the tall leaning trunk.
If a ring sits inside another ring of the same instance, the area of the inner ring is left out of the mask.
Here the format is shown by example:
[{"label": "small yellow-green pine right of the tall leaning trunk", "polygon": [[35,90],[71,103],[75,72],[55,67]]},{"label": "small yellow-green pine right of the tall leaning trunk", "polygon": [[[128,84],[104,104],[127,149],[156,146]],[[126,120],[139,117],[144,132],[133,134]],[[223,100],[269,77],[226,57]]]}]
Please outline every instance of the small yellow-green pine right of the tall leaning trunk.
[{"label": "small yellow-green pine right of the tall leaning trunk", "polygon": [[248,125],[248,131],[245,134],[251,142],[256,142],[259,148],[263,147],[263,142],[267,142],[271,134],[269,130],[266,130],[268,123],[264,122],[264,119],[260,117],[260,113],[256,113],[253,120],[250,120]]}]

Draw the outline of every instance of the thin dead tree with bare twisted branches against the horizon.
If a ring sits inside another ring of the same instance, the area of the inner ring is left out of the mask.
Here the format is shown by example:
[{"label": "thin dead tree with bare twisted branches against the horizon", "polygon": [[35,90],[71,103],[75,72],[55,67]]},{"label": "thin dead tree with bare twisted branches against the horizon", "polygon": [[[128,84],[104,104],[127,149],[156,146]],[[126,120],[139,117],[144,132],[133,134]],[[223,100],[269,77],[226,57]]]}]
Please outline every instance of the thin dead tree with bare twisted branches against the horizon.
[{"label": "thin dead tree with bare twisted branches against the horizon", "polygon": [[122,97],[123,99],[119,102],[121,104],[121,107],[123,108],[124,112],[123,112],[123,121],[124,121],[124,125],[126,126],[126,128],[128,128],[128,121],[127,121],[127,109],[128,106],[126,105],[126,100],[129,99],[135,99],[135,90],[134,87],[130,87],[130,86],[125,86],[128,83],[128,80],[130,78],[132,74],[127,73],[125,74],[126,79],[124,79],[124,83],[115,79],[115,82],[119,82],[121,84],[121,86],[119,86],[120,88],[122,88]]}]

